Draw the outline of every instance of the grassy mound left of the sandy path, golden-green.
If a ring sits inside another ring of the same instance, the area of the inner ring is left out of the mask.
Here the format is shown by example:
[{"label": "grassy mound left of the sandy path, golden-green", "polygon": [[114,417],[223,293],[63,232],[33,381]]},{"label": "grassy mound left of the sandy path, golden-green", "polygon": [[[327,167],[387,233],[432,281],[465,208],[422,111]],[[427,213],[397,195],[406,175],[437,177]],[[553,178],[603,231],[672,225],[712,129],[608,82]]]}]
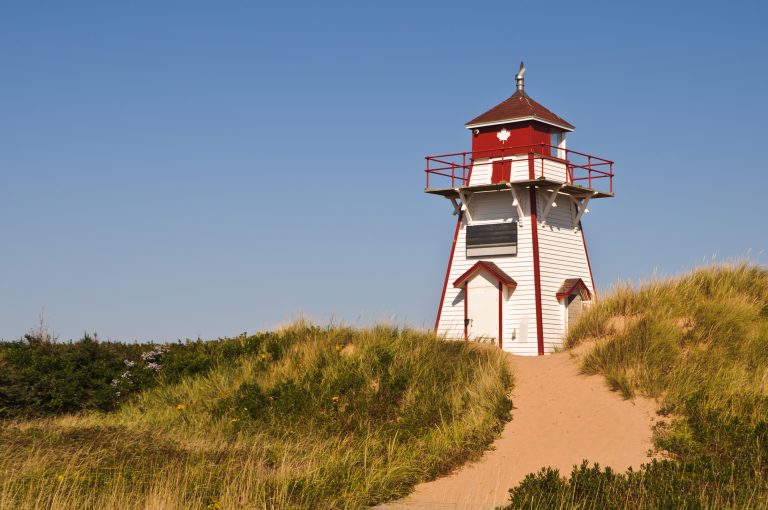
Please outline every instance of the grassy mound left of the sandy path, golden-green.
[{"label": "grassy mound left of the sandy path, golden-green", "polygon": [[508,362],[486,346],[306,324],[220,343],[238,342],[115,412],[0,422],[0,508],[363,508],[478,456],[509,418]]}]

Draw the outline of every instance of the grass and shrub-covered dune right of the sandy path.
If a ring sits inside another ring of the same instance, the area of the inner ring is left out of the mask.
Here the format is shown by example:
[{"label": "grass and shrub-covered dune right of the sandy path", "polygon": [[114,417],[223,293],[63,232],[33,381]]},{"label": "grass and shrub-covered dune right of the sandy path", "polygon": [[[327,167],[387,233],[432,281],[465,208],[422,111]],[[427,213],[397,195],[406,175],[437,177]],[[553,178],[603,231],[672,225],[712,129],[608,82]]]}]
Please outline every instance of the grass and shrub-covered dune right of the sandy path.
[{"label": "grass and shrub-covered dune right of the sandy path", "polygon": [[768,271],[708,267],[616,289],[569,334],[597,340],[582,368],[626,397],[656,398],[669,457],[637,472],[585,463],[529,475],[508,509],[768,507]]}]

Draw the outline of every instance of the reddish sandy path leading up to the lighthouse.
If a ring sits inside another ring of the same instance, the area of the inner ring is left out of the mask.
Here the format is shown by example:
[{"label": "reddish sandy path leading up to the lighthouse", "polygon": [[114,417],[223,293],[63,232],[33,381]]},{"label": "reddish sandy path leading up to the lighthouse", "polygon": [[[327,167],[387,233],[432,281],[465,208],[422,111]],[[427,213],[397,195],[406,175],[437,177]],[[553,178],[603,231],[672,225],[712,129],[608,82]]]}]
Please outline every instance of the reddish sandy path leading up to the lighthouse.
[{"label": "reddish sandy path leading up to the lighthouse", "polygon": [[571,353],[510,356],[515,374],[512,421],[493,450],[472,464],[423,483],[381,510],[479,510],[508,501],[528,473],[552,466],[570,473],[583,459],[617,470],[648,460],[656,406],[608,389],[601,376],[579,374]]}]

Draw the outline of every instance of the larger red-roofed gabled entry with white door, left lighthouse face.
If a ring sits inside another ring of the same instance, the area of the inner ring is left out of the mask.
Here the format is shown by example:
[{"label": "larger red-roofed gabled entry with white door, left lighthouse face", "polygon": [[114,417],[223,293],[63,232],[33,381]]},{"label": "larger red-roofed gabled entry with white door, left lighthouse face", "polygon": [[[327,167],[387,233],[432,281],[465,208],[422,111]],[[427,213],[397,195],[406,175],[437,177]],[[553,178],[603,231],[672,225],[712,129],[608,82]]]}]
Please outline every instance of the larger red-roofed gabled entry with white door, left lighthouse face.
[{"label": "larger red-roofed gabled entry with white door, left lighthouse face", "polygon": [[493,262],[481,260],[457,278],[453,286],[464,293],[464,339],[493,338],[502,348],[504,302],[517,282]]}]

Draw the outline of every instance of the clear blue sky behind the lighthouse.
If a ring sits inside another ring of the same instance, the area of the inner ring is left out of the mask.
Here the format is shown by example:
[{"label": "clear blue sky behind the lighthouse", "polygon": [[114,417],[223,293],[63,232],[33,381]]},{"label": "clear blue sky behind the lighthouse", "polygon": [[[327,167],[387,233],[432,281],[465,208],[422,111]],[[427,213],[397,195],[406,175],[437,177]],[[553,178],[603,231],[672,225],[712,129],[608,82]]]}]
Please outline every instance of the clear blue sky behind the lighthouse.
[{"label": "clear blue sky behind the lighthouse", "polygon": [[526,91],[617,162],[597,284],[768,248],[764,2],[3,2],[0,338],[431,326],[423,156]]}]

